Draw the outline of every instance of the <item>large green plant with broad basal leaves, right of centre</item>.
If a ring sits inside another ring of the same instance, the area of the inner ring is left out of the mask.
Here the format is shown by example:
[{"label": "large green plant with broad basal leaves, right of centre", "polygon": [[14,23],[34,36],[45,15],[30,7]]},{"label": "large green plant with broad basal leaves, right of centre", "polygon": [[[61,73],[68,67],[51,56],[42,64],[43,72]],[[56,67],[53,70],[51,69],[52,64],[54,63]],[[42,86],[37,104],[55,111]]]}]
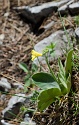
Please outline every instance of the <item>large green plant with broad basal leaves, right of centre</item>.
[{"label": "large green plant with broad basal leaves, right of centre", "polygon": [[42,89],[38,96],[38,109],[40,111],[47,108],[56,100],[56,98],[69,93],[71,88],[72,53],[72,49],[68,51],[65,66],[62,65],[62,62],[59,59],[59,72],[57,77],[54,75],[53,70],[49,65],[46,54],[45,59],[49,67],[50,74],[40,72],[32,76],[34,84]]}]

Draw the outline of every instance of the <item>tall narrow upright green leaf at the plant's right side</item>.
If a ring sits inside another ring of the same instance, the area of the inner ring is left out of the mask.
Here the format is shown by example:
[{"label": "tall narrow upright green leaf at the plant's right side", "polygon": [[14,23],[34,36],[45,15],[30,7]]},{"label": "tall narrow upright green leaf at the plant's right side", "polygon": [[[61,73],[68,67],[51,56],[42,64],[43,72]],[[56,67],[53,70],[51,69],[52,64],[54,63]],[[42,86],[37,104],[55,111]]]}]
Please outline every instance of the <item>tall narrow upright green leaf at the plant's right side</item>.
[{"label": "tall narrow upright green leaf at the plant's right side", "polygon": [[73,49],[71,49],[68,52],[67,58],[66,58],[65,70],[66,70],[67,77],[68,77],[69,73],[71,74],[71,70],[72,70],[72,53],[73,53]]}]

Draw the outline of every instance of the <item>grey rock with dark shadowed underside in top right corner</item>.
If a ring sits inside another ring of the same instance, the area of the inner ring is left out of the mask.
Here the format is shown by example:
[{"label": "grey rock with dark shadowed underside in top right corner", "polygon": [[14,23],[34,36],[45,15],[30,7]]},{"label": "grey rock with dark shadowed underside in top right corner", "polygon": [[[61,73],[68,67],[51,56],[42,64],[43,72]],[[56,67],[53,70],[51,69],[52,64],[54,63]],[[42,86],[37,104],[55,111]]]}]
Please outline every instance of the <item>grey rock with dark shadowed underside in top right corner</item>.
[{"label": "grey rock with dark shadowed underside in top right corner", "polygon": [[79,2],[69,5],[69,11],[71,15],[79,14]]}]

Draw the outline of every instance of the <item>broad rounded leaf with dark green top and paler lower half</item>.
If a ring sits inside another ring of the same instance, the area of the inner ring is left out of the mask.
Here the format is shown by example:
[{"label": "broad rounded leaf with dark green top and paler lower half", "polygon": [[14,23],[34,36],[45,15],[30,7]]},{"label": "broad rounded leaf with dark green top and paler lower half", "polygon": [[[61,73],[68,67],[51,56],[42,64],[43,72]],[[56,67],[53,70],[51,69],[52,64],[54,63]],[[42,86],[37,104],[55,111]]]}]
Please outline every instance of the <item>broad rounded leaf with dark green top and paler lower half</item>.
[{"label": "broad rounded leaf with dark green top and paler lower half", "polygon": [[34,83],[41,89],[58,88],[60,89],[58,83],[54,80],[52,75],[48,73],[36,73],[32,76]]}]

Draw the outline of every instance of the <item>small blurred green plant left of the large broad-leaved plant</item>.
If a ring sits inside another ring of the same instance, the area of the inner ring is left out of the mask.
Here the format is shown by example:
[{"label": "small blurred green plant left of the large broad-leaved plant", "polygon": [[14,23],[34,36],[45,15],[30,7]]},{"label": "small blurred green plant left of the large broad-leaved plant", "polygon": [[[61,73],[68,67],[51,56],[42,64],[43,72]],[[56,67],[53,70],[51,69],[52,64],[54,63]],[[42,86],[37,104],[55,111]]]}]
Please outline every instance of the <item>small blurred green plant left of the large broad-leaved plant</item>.
[{"label": "small blurred green plant left of the large broad-leaved plant", "polygon": [[26,92],[28,91],[28,88],[32,85],[31,76],[38,70],[38,67],[35,64],[32,64],[31,69],[29,69],[25,63],[20,63],[19,67],[26,73],[26,76],[24,78],[24,91]]}]

